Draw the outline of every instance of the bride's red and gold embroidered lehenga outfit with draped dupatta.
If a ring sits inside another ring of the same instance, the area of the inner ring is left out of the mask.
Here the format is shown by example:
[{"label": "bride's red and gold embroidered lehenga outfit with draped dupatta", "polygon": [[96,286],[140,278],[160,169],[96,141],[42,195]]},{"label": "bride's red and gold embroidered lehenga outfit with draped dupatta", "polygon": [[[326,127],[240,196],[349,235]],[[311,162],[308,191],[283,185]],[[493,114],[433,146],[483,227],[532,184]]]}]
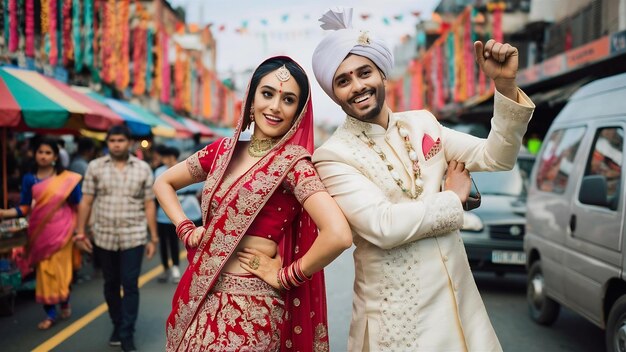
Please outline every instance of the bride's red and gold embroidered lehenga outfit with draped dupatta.
[{"label": "bride's red and gold embroidered lehenga outfit with draped dupatta", "polygon": [[[244,100],[246,101],[246,100]],[[243,109],[246,111],[247,109]],[[324,190],[310,162],[313,113],[307,103],[289,132],[239,179],[224,180],[242,129],[187,159],[205,181],[205,235],[188,248],[183,274],[167,320],[167,351],[328,351],[323,272],[279,292],[252,275],[221,272],[246,234],[279,243],[283,265],[300,258],[317,237],[301,202]]]}]

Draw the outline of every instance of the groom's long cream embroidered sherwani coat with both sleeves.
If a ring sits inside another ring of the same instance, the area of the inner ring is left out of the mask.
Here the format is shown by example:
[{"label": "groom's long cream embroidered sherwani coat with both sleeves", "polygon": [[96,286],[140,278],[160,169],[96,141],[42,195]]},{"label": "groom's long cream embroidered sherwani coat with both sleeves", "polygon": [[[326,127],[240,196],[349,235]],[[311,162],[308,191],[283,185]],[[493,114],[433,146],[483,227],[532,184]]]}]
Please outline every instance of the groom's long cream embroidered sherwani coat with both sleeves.
[{"label": "groom's long cream embroidered sherwani coat with both sleeves", "polygon": [[[487,139],[445,128],[428,111],[407,111],[391,114],[387,130],[347,117],[313,155],[356,245],[350,351],[502,350],[459,234],[461,202],[452,191],[441,191],[450,160],[465,162],[470,171],[514,166],[534,105],[521,90],[519,103],[499,92],[494,99]],[[402,192],[380,156],[357,137],[370,136],[414,190],[398,121],[419,157],[424,191],[417,200]],[[439,143],[428,143],[425,135]]]}]

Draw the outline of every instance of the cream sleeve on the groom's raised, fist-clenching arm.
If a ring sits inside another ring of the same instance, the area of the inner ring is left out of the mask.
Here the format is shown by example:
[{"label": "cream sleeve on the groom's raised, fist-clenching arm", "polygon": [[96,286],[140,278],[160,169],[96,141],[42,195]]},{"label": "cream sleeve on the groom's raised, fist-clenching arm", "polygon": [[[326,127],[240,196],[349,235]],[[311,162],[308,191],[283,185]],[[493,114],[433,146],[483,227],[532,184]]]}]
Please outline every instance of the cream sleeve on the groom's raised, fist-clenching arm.
[{"label": "cream sleeve on the groom's raised, fist-clenching arm", "polygon": [[522,145],[535,105],[518,89],[518,102],[496,91],[491,131],[486,139],[442,127],[446,160],[465,163],[470,171],[510,170]]}]

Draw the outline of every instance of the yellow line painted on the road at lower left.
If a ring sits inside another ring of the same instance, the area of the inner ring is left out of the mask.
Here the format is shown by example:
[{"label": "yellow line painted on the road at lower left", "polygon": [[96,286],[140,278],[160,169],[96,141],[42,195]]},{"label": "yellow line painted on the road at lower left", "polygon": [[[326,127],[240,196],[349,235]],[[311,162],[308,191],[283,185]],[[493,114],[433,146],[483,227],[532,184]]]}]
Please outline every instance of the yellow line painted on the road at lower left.
[{"label": "yellow line painted on the road at lower left", "polygon": [[[187,255],[187,252],[182,251],[182,252],[180,252],[179,256],[180,256],[181,259],[183,259],[186,255]],[[157,277],[157,275],[159,275],[162,272],[163,272],[163,266],[159,264],[156,268],[154,268],[154,269],[148,271],[147,273],[141,275],[139,277],[139,287],[142,287],[143,285],[145,285],[150,280],[152,280],[155,277]],[[33,352],[48,352],[48,351],[51,351],[53,348],[55,348],[58,345],[60,345],[61,343],[63,343],[63,341],[67,340],[72,335],[77,333],[80,329],[84,328],[89,323],[91,323],[92,321],[96,320],[99,316],[101,316],[102,314],[106,313],[107,310],[108,309],[107,309],[106,302],[100,304],[99,306],[94,308],[91,312],[85,314],[80,319],[76,320],[75,322],[70,324],[65,329],[59,331],[56,335],[52,336],[51,338],[46,340],[41,345],[35,347],[33,349]]]}]

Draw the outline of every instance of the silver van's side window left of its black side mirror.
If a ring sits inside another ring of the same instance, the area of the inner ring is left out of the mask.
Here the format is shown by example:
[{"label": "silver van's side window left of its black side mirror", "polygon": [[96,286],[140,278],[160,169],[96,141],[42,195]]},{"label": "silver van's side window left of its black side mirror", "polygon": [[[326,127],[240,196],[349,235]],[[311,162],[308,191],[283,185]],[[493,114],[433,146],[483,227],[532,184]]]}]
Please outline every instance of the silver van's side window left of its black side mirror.
[{"label": "silver van's side window left of its black side mirror", "polygon": [[544,192],[565,192],[584,135],[585,127],[555,130],[550,135],[539,160],[537,188]]}]

